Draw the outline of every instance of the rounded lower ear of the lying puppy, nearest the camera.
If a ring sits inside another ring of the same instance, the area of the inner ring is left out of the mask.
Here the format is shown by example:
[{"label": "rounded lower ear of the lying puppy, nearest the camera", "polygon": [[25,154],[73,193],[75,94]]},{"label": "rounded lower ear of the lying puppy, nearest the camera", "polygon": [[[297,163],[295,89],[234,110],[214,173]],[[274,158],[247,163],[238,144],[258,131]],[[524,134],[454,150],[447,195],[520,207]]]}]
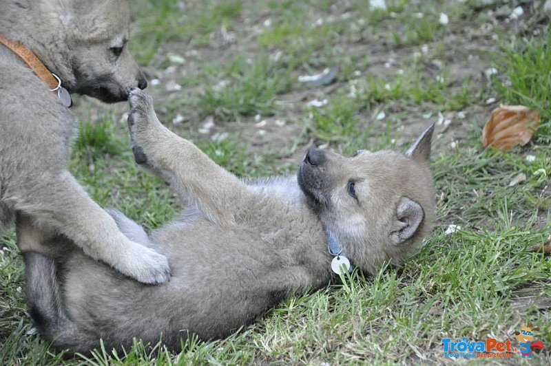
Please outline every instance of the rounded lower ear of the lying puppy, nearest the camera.
[{"label": "rounded lower ear of the lying puppy, nearest the camera", "polygon": [[391,239],[394,244],[403,244],[411,239],[425,218],[425,211],[417,202],[408,197],[402,197],[396,208],[395,217],[391,226]]}]

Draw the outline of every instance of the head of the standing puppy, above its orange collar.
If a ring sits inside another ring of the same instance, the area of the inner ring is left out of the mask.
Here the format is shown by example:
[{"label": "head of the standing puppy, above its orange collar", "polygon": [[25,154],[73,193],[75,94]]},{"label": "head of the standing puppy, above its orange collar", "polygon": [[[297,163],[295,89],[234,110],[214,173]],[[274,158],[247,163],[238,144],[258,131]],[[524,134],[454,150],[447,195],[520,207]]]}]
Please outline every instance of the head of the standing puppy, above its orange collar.
[{"label": "head of the standing puppy, above its orange collar", "polygon": [[[128,0],[39,3],[43,18],[48,17],[55,33],[51,35],[55,41],[49,43],[51,50],[43,53],[70,92],[114,103],[127,100],[135,87],[147,87],[145,75],[127,48]],[[51,60],[51,52],[60,56]]]}]

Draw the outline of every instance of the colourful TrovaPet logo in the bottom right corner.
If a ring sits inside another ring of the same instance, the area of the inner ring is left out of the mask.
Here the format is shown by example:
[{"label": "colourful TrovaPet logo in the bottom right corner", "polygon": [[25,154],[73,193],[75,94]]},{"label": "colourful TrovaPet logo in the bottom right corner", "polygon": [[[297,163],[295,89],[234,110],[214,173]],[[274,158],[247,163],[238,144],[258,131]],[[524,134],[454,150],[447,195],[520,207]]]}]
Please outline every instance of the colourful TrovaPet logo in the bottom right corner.
[{"label": "colourful TrovaPet logo in the bottom right corner", "polygon": [[446,358],[503,358],[521,354],[522,358],[532,358],[532,352],[544,349],[540,341],[532,342],[534,338],[532,323],[521,328],[521,332],[514,332],[514,338],[519,341],[520,347],[514,347],[511,341],[498,341],[496,338],[486,338],[486,341],[470,341],[463,337],[453,341],[452,338],[442,338],[442,349]]}]

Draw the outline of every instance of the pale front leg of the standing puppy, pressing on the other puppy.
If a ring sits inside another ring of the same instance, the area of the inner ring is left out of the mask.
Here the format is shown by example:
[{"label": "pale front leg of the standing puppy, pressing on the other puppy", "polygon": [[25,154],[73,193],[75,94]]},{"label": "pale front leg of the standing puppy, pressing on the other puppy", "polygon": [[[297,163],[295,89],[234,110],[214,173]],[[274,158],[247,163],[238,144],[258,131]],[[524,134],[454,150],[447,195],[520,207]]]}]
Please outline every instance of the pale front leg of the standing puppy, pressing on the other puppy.
[{"label": "pale front leg of the standing puppy, pressing on the other puppy", "polygon": [[41,176],[40,181],[31,183],[24,194],[12,195],[10,201],[16,211],[32,217],[34,226],[56,230],[86,255],[143,283],[169,279],[166,257],[125,237],[115,220],[88,197],[69,172]]}]

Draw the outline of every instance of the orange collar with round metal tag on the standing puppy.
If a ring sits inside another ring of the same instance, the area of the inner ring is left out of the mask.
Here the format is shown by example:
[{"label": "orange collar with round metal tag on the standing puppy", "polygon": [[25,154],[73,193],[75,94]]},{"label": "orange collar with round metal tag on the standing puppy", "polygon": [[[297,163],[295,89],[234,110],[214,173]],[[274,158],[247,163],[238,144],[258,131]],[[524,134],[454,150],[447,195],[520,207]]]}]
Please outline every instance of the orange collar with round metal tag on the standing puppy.
[{"label": "orange collar with round metal tag on the standing puppy", "polygon": [[65,107],[70,107],[72,105],[69,92],[61,86],[61,79],[56,74],[50,72],[48,67],[45,67],[37,55],[21,43],[7,39],[2,34],[0,34],[0,43],[3,43],[3,45],[12,50],[14,54],[21,57],[21,59],[25,61],[32,71],[34,71],[34,74],[37,74],[45,85],[48,85],[50,92],[56,92],[59,99],[61,99],[61,103],[63,103]]}]

